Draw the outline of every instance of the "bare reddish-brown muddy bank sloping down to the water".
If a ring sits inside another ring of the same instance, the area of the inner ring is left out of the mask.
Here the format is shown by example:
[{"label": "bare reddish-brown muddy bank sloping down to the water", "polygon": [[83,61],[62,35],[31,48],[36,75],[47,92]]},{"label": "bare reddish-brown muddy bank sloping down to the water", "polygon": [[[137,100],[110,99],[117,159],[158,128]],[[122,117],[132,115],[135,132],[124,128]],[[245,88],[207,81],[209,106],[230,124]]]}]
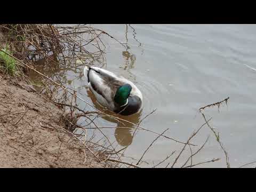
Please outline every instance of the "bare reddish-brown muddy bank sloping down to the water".
[{"label": "bare reddish-brown muddy bank sloping down to the water", "polygon": [[0,73],[0,167],[108,167],[63,131],[62,110],[21,78]]}]

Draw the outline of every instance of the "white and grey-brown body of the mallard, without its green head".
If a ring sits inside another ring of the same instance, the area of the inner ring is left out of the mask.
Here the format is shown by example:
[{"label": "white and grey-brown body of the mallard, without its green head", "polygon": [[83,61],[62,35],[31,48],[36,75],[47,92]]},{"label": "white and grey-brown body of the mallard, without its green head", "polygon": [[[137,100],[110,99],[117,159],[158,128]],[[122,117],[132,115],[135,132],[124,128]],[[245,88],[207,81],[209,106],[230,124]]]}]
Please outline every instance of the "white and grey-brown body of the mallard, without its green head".
[{"label": "white and grey-brown body of the mallard, without its green head", "polygon": [[[130,97],[133,99],[127,99],[127,102],[131,101],[133,104],[137,103],[135,106],[138,109],[137,111],[139,111],[142,107],[143,98],[141,91],[131,81],[125,79],[124,77],[117,76],[114,73],[99,67],[85,67],[84,75],[87,76],[89,89],[95,95],[97,101],[101,106],[107,107],[110,111],[118,111],[123,107],[117,106],[117,103],[114,102],[114,97],[118,87],[124,84],[129,84],[132,87]],[[126,103],[126,105],[129,106],[129,103]]]}]

